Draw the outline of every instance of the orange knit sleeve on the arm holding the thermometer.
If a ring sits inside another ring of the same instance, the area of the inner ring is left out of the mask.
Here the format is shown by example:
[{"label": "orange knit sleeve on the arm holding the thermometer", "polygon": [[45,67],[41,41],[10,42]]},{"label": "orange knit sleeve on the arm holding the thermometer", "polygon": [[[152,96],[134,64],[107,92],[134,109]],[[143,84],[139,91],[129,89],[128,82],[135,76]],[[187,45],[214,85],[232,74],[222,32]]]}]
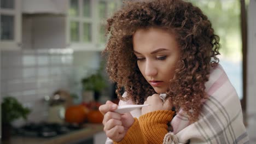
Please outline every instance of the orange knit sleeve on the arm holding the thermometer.
[{"label": "orange knit sleeve on the arm holding the thermometer", "polygon": [[142,135],[141,128],[139,127],[139,122],[137,118],[134,118],[135,121],[133,122],[132,126],[128,129],[127,133],[125,134],[125,137],[123,140],[119,142],[119,144],[125,144],[125,143],[146,143],[146,140],[144,139],[144,136]]}]

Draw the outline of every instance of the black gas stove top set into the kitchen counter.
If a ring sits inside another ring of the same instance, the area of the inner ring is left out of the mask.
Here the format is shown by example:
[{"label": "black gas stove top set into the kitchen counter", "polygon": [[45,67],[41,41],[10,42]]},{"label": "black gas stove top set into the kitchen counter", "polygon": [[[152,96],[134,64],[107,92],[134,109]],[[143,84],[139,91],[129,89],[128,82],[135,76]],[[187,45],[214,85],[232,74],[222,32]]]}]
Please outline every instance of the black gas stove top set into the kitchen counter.
[{"label": "black gas stove top set into the kitchen counter", "polygon": [[20,128],[16,128],[16,134],[21,136],[33,137],[54,137],[69,133],[71,131],[82,129],[76,124],[59,123],[27,123]]}]

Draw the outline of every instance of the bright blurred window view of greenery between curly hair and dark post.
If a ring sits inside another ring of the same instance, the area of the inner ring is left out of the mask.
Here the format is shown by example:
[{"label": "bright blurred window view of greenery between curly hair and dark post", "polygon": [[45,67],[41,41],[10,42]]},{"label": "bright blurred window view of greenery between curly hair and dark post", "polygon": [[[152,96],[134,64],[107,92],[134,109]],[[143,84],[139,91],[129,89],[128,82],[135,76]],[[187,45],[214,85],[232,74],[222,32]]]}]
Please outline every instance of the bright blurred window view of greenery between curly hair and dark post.
[{"label": "bright blurred window view of greenery between curly hair and dark post", "polygon": [[[212,22],[220,37],[220,64],[225,69],[238,96],[242,99],[242,36],[241,8],[239,0],[190,0]],[[248,5],[248,1],[246,1]]]}]

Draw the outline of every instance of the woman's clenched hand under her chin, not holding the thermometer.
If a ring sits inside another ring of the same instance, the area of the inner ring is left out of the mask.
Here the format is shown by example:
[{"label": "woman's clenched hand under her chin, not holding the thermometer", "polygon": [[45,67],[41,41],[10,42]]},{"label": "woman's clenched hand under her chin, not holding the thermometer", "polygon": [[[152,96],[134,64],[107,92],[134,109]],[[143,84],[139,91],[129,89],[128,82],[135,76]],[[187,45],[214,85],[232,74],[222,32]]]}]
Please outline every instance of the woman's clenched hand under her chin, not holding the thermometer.
[{"label": "woman's clenched hand under her chin, not holding the thermometer", "polygon": [[162,102],[159,94],[153,94],[149,96],[144,104],[149,104],[149,106],[142,107],[141,114],[144,115],[148,112],[157,111],[157,110],[171,110],[172,106],[167,99],[165,103]]}]

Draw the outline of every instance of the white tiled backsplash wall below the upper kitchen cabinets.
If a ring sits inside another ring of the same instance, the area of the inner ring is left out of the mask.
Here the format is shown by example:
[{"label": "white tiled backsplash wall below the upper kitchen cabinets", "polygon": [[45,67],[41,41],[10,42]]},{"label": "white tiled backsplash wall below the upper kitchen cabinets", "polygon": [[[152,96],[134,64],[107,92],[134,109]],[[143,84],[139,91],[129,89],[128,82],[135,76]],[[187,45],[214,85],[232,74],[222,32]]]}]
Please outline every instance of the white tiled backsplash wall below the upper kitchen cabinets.
[{"label": "white tiled backsplash wall below the upper kitchen cabinets", "polygon": [[[32,109],[28,121],[39,122],[47,118],[43,98],[57,89],[80,94],[75,83],[86,75],[86,70],[99,65],[98,52],[50,53],[48,49],[1,51],[1,97],[11,95]],[[0,99],[1,101],[1,99]],[[18,121],[15,124],[22,124]]]}]

